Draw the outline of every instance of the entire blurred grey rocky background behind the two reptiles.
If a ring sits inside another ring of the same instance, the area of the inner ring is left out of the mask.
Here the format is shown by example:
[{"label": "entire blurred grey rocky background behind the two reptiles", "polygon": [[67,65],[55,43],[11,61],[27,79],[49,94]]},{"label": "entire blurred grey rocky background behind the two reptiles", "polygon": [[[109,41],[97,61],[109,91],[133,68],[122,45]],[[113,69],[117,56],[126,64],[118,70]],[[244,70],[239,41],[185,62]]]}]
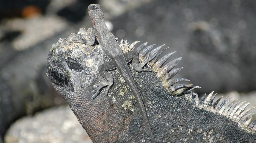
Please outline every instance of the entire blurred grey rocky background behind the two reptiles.
[{"label": "entire blurred grey rocky background behind the two reptiles", "polygon": [[256,106],[254,0],[0,1],[0,137],[5,135],[5,142],[89,142],[69,107],[43,110],[66,103],[45,74],[48,51],[58,38],[92,26],[91,3],[101,5],[119,40],[165,43],[166,52],[178,51],[175,57],[183,56],[178,67],[184,69],[177,76],[202,87],[200,95],[214,90]]}]

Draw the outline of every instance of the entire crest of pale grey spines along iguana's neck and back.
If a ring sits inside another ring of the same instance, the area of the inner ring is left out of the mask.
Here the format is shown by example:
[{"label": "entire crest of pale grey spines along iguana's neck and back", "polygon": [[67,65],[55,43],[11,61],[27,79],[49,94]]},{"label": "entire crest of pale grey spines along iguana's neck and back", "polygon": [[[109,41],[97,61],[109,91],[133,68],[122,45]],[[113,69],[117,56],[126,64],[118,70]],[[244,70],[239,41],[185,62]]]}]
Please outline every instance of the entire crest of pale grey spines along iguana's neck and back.
[{"label": "entire crest of pale grey spines along iguana's neck and back", "polygon": [[[125,54],[133,50],[135,44],[137,44],[138,42],[140,41],[135,41],[131,44],[128,44],[127,40],[121,40],[119,42],[119,46]],[[255,107],[245,110],[245,108],[250,103],[244,104],[244,102],[238,100],[234,100],[233,102],[229,103],[232,97],[226,97],[222,101],[222,97],[220,97],[215,102],[213,102],[216,96],[216,94],[213,94],[213,91],[208,95],[205,93],[201,100],[199,100],[197,93],[191,91],[193,89],[200,88],[199,86],[192,86],[192,84],[176,84],[180,81],[189,81],[189,79],[173,78],[173,76],[176,75],[177,72],[179,72],[183,68],[181,67],[174,69],[182,57],[176,58],[162,67],[167,59],[170,58],[177,51],[166,54],[162,58],[158,59],[159,55],[169,47],[162,48],[164,46],[163,44],[153,49],[155,44],[152,44],[144,48],[146,44],[147,42],[143,43],[139,48],[137,48],[137,50],[139,50],[139,66],[142,68],[147,65],[147,67],[151,68],[152,71],[156,72],[157,76],[161,79],[163,86],[172,95],[185,95],[194,106],[216,114],[223,115],[238,123],[238,126],[245,131],[256,134],[256,121],[251,121],[254,113],[248,113]]]}]

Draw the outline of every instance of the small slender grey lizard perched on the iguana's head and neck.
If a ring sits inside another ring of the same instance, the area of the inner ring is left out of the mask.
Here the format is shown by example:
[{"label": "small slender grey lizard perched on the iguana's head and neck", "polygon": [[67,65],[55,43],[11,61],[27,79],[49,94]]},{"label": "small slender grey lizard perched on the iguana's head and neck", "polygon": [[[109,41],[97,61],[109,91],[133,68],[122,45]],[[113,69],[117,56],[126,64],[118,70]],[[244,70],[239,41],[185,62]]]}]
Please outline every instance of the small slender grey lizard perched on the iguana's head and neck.
[{"label": "small slender grey lizard perched on the iguana's head and neck", "polygon": [[[153,131],[151,130],[150,122],[148,121],[147,113],[141,99],[139,90],[136,87],[136,84],[131,75],[131,71],[127,65],[127,63],[130,62],[132,59],[139,61],[139,48],[137,50],[133,50],[132,52],[127,53],[126,57],[124,57],[123,52],[121,51],[115,39],[115,36],[108,30],[108,27],[104,22],[103,12],[100,9],[100,5],[90,4],[88,6],[88,12],[91,21],[93,22],[93,33],[90,36],[90,39],[86,41],[86,44],[93,45],[96,38],[101,45],[103,52],[111,60],[109,62],[105,62],[98,67],[99,73],[107,81],[95,85],[96,88],[93,90],[94,95],[92,96],[92,98],[95,98],[99,94],[100,90],[105,86],[108,86],[106,90],[106,93],[108,93],[110,87],[113,85],[113,76],[108,73],[108,71],[114,70],[116,68],[124,78],[125,82],[129,85],[132,93],[135,95],[143,120],[148,129],[148,133],[150,133],[151,141],[155,142],[155,139],[153,137]],[[137,61],[136,63],[138,63]],[[147,71],[146,69],[142,69],[138,64],[133,64],[133,69],[136,71]]]}]

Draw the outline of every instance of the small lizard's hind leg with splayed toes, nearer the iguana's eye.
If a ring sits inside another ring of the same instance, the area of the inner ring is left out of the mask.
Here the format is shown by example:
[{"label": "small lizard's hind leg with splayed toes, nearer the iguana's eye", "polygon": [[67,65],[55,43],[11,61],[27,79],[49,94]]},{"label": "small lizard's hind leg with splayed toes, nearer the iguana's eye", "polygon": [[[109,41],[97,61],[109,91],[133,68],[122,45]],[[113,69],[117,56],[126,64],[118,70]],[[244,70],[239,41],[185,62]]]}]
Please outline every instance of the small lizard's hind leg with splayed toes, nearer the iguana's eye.
[{"label": "small lizard's hind leg with splayed toes, nearer the iguana's eye", "polygon": [[109,92],[109,89],[110,87],[113,85],[114,83],[114,79],[113,79],[113,76],[108,72],[108,71],[111,71],[111,70],[114,70],[116,68],[116,64],[114,61],[109,61],[109,62],[105,62],[104,64],[100,65],[98,67],[98,71],[99,73],[107,80],[105,82],[101,82],[99,84],[96,84],[94,85],[95,89],[92,91],[94,93],[93,96],[91,96],[91,98],[95,98],[99,93],[100,93],[100,90],[105,87],[105,86],[108,86],[107,87],[107,90],[106,90],[106,95],[108,94]]}]

